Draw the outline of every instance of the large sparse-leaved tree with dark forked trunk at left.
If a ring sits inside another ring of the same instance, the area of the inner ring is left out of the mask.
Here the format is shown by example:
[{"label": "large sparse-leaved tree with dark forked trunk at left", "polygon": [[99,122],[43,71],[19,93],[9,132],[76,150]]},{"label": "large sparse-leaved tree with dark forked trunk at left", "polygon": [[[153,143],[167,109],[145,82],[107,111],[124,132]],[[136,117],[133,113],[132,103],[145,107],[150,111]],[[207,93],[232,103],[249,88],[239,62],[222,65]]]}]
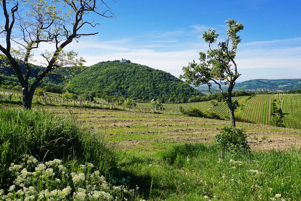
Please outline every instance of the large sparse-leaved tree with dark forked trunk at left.
[{"label": "large sparse-leaved tree with dark forked trunk at left", "polygon": [[[74,67],[74,70],[83,68],[85,60],[77,58],[77,53],[65,52],[63,49],[73,40],[78,40],[81,36],[95,35],[97,33],[82,33],[85,27],[95,27],[95,21],[85,21],[87,15],[93,13],[114,17],[110,8],[101,1],[99,5],[96,0],[66,0],[51,1],[46,0],[2,0],[0,2],[3,9],[3,19],[5,26],[0,26],[0,37],[5,38],[5,43],[0,44],[2,66],[10,67],[13,72],[1,71],[2,74],[17,75],[18,81],[23,91],[23,107],[30,109],[33,94],[38,86],[42,84],[42,79],[55,74],[62,67]],[[104,6],[107,11],[100,13],[98,8]],[[109,13],[109,15],[107,15]],[[11,42],[19,45],[18,48],[11,47]],[[38,49],[43,44],[51,44],[53,52],[47,50],[41,52],[44,61],[41,66],[35,68],[35,79],[29,87],[29,77],[32,66],[32,50]],[[26,72],[23,74],[20,64],[24,64]],[[38,69],[44,66],[44,70],[38,73]],[[70,74],[72,72],[70,71]]]}]

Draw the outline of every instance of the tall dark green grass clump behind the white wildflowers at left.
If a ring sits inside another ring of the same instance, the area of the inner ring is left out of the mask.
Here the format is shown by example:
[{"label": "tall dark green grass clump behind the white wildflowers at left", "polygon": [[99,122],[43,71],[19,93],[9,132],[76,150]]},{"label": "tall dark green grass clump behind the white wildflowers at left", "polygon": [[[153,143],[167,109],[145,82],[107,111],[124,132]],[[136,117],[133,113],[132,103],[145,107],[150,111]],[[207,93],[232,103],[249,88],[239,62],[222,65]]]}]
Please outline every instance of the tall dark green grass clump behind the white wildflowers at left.
[{"label": "tall dark green grass clump behind the white wildflowers at left", "polygon": [[45,110],[0,108],[0,183],[3,185],[5,169],[11,163],[20,162],[24,154],[33,155],[39,161],[89,162],[108,176],[116,165],[114,149],[104,138],[81,129],[71,111],[66,117],[58,117]]}]

